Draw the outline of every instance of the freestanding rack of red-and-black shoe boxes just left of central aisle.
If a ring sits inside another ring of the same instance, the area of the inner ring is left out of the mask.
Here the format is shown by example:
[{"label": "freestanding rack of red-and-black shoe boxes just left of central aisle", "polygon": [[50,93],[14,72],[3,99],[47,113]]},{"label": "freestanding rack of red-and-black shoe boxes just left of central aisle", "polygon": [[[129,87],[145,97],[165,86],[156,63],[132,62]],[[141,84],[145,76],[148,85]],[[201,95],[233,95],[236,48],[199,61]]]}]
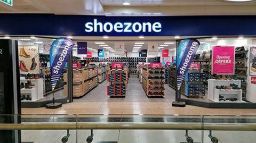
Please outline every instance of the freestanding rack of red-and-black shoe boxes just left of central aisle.
[{"label": "freestanding rack of red-and-black shoe boxes just left of central aisle", "polygon": [[128,83],[128,68],[111,69],[107,72],[107,95],[109,97],[125,97]]}]

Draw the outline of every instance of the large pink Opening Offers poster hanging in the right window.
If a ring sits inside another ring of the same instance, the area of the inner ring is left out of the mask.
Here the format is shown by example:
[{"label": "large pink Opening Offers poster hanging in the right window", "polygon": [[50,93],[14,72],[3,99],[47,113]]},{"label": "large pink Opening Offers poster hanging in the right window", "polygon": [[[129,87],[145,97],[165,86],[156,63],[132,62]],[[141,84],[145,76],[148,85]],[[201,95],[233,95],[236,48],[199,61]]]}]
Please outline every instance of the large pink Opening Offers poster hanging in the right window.
[{"label": "large pink Opening Offers poster hanging in the right window", "polygon": [[235,74],[235,47],[213,47],[212,73]]}]

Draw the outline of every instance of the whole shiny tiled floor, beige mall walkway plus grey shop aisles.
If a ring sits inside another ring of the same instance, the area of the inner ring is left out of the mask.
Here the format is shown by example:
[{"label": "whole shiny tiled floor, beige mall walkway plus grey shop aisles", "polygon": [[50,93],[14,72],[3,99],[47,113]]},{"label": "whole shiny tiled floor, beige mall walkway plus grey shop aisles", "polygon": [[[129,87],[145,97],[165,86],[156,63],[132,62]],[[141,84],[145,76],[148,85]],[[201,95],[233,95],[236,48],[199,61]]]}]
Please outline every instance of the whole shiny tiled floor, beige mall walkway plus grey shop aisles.
[{"label": "whole shiny tiled floor, beige mall walkway plus grey shop aisles", "polygon": [[175,91],[172,88],[165,86],[164,98],[148,98],[134,76],[129,79],[125,98],[109,98],[106,86],[107,81],[104,81],[83,98],[74,99],[61,108],[22,108],[22,114],[256,115],[256,109],[173,107]]}]

